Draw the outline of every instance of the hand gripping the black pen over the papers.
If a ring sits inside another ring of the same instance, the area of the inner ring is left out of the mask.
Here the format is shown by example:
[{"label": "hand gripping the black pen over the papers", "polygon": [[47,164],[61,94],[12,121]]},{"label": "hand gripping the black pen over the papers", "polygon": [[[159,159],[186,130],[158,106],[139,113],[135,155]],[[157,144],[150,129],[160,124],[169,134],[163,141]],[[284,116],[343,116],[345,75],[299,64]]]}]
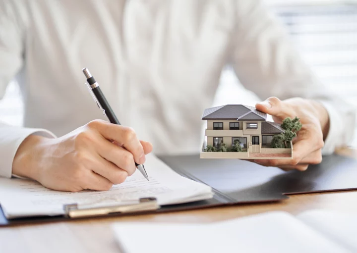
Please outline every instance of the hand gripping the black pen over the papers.
[{"label": "hand gripping the black pen over the papers", "polygon": [[152,145],[139,141],[130,127],[93,120],[58,138],[28,136],[15,154],[12,173],[58,191],[107,191],[137,169],[147,177],[138,164],[151,151]]}]

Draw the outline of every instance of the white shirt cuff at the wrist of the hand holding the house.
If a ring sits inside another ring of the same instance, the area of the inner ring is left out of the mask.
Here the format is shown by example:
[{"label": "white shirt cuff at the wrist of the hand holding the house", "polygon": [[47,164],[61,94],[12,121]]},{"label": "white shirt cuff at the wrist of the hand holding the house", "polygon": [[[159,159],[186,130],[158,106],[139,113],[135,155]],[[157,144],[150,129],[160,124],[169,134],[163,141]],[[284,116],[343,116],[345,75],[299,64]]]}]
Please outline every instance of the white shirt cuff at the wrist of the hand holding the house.
[{"label": "white shirt cuff at the wrist of the hand holding the house", "polygon": [[341,116],[336,110],[336,108],[333,105],[331,105],[331,103],[327,101],[320,101],[320,102],[327,110],[327,113],[329,115],[329,121],[330,121],[329,132],[327,134],[327,137],[325,138],[324,147],[322,148],[322,154],[328,155],[335,152],[335,149],[338,146],[341,146],[341,140],[342,140],[341,136],[342,136],[342,131],[344,131],[343,124],[342,124],[343,120],[341,119]]}]

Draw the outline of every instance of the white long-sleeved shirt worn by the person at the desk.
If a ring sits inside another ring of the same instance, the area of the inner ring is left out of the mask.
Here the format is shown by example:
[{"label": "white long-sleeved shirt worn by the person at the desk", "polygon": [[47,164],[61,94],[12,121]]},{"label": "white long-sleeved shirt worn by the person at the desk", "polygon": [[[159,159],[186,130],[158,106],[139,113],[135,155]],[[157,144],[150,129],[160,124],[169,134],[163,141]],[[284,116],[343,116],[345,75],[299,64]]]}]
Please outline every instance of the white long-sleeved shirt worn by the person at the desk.
[{"label": "white long-sleeved shirt worn by the person at the desk", "polygon": [[226,64],[261,99],[322,101],[325,152],[348,143],[354,108],[316,81],[258,0],[0,0],[0,96],[16,78],[25,107],[24,128],[1,125],[0,176],[11,176],[29,134],[61,136],[105,119],[83,67],[155,152],[198,152],[201,115]]}]

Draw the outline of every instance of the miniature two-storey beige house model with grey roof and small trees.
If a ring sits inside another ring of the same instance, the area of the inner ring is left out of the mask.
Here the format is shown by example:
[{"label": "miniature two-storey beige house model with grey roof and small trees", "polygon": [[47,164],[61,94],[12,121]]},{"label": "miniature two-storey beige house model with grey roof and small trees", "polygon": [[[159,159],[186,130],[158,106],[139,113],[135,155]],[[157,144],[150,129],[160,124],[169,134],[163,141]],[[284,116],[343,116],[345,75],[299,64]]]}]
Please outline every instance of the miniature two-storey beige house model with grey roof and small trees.
[{"label": "miniature two-storey beige house model with grey roof and small trees", "polygon": [[292,158],[292,140],[301,129],[299,119],[286,118],[280,125],[266,117],[266,113],[242,104],[206,109],[202,115],[202,120],[207,120],[206,142],[200,158]]}]

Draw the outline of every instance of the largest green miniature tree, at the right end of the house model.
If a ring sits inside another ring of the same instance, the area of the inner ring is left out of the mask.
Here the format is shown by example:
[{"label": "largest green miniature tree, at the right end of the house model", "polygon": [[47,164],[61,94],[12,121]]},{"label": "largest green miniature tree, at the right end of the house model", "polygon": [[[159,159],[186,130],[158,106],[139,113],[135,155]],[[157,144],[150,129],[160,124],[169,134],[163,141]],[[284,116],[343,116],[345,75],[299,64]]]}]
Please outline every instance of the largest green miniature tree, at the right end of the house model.
[{"label": "largest green miniature tree, at the right end of the house model", "polygon": [[[288,143],[290,143],[296,136],[297,131],[302,127],[300,119],[295,117],[291,119],[287,117],[283,120],[281,127],[284,129],[284,133],[275,135],[270,143],[271,148],[288,148]],[[289,145],[289,148],[290,145]]]}]

